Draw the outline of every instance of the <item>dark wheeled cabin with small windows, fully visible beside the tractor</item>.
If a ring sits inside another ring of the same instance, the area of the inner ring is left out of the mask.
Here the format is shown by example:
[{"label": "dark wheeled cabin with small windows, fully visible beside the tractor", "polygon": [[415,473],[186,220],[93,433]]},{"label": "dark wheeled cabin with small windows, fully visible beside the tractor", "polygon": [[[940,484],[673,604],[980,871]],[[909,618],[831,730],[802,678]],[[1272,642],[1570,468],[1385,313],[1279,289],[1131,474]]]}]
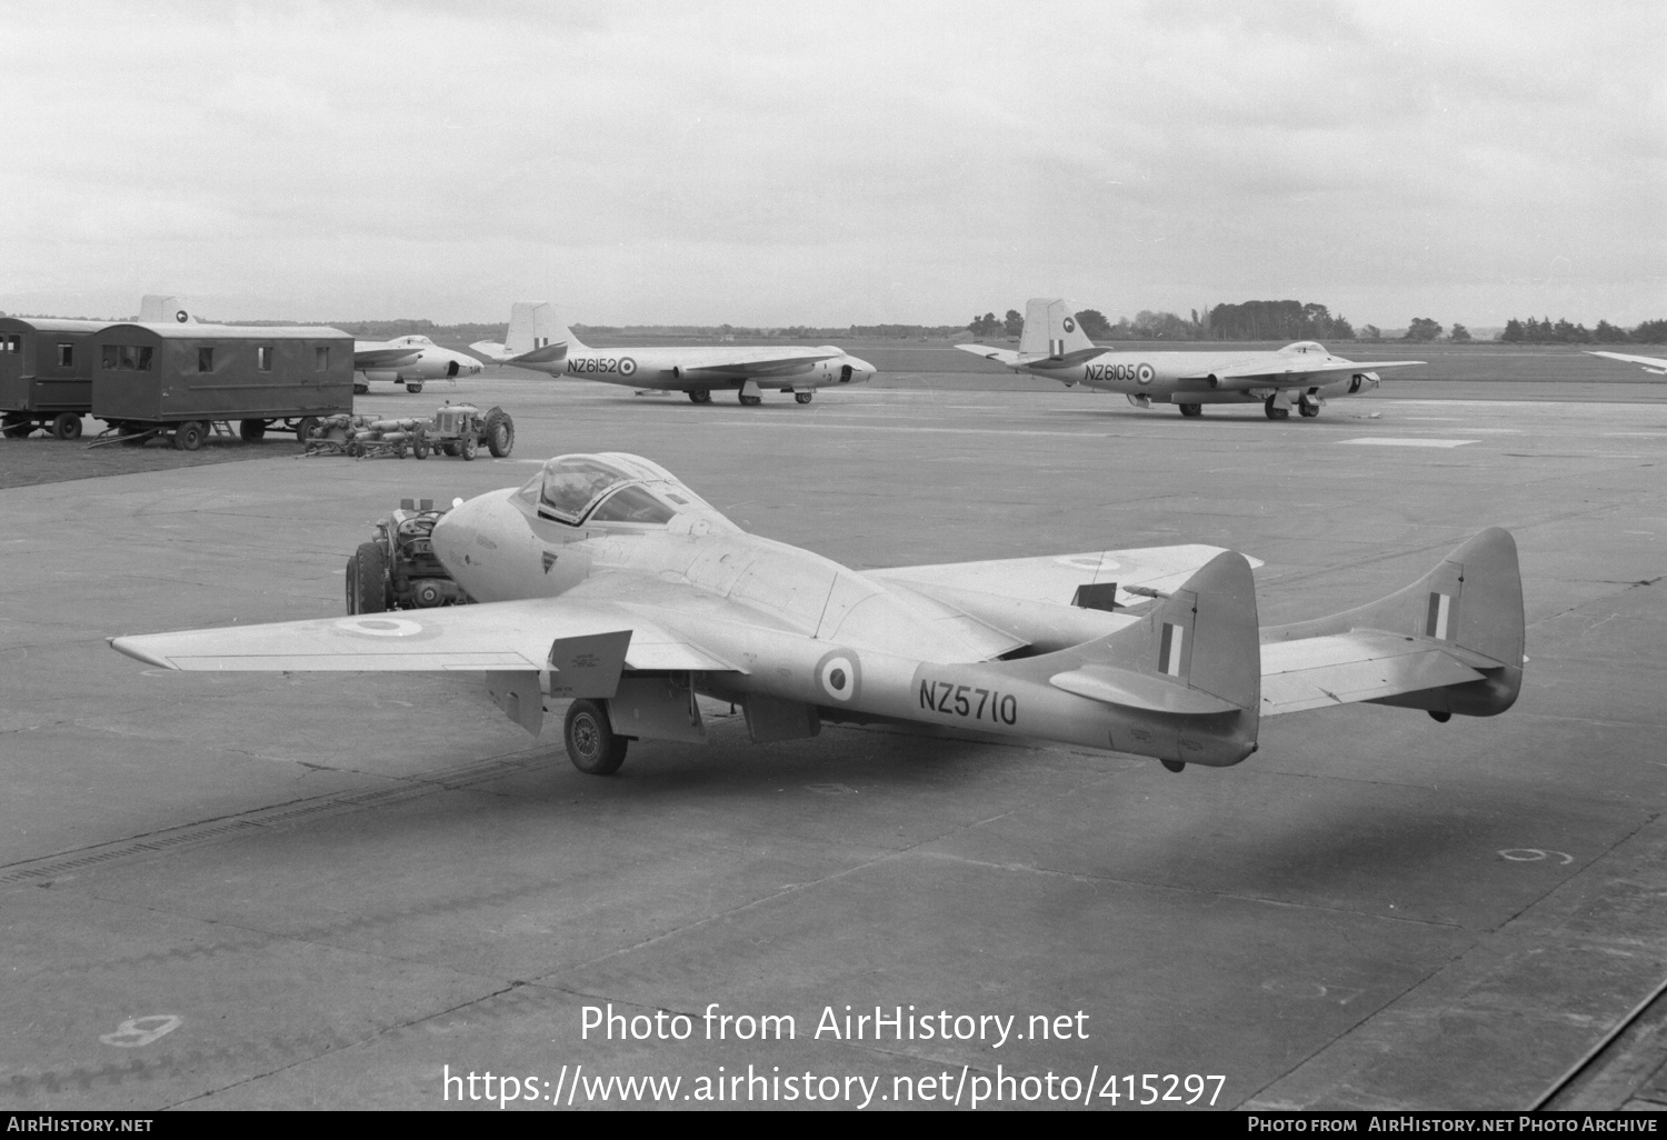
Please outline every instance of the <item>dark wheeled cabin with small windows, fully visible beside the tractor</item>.
[{"label": "dark wheeled cabin with small windows, fully visible beside the tractor", "polygon": [[353,338],[338,328],[108,325],[92,338],[92,413],[123,435],[172,432],[197,450],[210,425],[238,420],[300,438],[353,410]]}]

